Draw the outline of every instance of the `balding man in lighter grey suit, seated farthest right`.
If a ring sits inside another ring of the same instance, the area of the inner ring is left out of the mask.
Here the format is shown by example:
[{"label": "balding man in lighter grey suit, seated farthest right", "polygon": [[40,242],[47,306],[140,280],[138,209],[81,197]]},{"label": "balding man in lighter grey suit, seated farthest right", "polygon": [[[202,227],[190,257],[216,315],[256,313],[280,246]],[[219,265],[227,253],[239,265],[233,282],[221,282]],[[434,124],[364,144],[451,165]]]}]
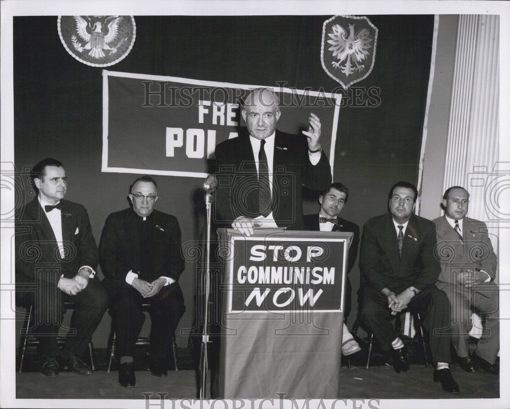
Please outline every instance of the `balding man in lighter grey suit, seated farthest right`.
[{"label": "balding man in lighter grey suit, seated farthest right", "polygon": [[[498,260],[487,225],[466,217],[469,193],[460,186],[446,190],[441,202],[445,215],[436,223],[441,274],[436,285],[452,304],[452,342],[460,357],[460,366],[474,372],[480,365],[486,372],[497,375],[499,352],[499,287],[494,283]],[[471,314],[483,319],[483,331],[476,350],[469,355],[469,331],[473,327]]]}]

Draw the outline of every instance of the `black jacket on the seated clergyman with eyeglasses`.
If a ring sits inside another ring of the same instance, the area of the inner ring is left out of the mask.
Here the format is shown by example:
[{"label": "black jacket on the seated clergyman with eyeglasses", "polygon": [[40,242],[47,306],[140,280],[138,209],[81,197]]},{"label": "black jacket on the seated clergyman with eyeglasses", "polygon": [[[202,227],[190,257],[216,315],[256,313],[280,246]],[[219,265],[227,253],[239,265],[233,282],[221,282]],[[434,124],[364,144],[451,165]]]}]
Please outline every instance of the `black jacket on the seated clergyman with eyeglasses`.
[{"label": "black jacket on the seated clergyman with eyeglasses", "polygon": [[[128,208],[112,213],[106,219],[99,241],[99,259],[105,278],[127,285],[127,273],[142,270],[142,250],[136,227],[138,217],[132,208]],[[149,282],[161,276],[178,280],[184,271],[179,222],[174,216],[157,210],[151,212],[147,222],[153,229],[151,257],[154,270],[144,271],[144,276]]]}]

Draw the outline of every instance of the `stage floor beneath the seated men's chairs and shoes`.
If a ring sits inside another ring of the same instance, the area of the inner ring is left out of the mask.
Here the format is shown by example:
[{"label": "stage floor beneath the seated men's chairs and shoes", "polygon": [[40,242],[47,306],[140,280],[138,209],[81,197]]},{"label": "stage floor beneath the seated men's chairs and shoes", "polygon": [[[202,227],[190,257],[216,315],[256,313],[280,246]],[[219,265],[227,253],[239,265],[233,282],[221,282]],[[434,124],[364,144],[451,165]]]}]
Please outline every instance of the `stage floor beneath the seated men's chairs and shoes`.
[{"label": "stage floor beneath the seated men's chairs and shoes", "polygon": [[[419,347],[410,349],[411,369],[403,374],[396,374],[388,356],[377,348],[372,352],[370,368],[366,369],[367,351],[363,344],[362,347],[363,351],[351,356],[350,368],[345,357],[342,360],[341,398],[487,399],[499,397],[499,376],[489,375],[481,368],[477,372],[467,373],[457,364],[452,364],[453,377],[461,389],[461,393],[455,395],[443,392],[441,385],[432,381],[433,369],[425,367],[424,355]],[[61,372],[54,378],[45,377],[38,372],[40,364],[38,356],[35,349],[28,350],[23,363],[23,372],[16,373],[16,398],[18,399],[144,399],[145,396],[160,399],[161,395],[157,395],[160,393],[165,394],[164,399],[193,399],[198,396],[195,365],[186,348],[177,349],[180,370],[174,371],[173,365],[169,364],[168,377],[152,376],[150,371],[145,370],[147,368],[145,351],[142,349],[139,354],[137,352],[135,356],[137,384],[133,388],[123,388],[118,385],[115,363],[112,371],[107,373],[109,355],[106,349],[94,350],[96,371],[86,377],[70,372]],[[85,387],[83,380],[86,380]],[[208,375],[208,380],[211,380],[211,374]],[[208,389],[206,398],[210,396],[210,389]],[[277,396],[273,398],[277,399]],[[320,396],[314,398],[320,398]]]}]

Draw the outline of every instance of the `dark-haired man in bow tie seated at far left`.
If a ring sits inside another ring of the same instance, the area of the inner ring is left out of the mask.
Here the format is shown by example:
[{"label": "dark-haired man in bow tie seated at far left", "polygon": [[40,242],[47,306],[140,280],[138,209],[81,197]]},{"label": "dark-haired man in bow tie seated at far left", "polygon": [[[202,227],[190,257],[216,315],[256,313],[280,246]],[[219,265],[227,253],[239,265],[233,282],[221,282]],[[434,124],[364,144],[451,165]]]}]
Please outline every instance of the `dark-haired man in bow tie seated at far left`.
[{"label": "dark-haired man in bow tie seated at far left", "polygon": [[[37,197],[16,215],[16,303],[32,306],[41,372],[57,376],[62,367],[92,373],[81,360],[107,309],[107,294],[95,276],[99,257],[85,208],[64,200],[67,177],[61,162],[44,159],[32,168]],[[59,350],[57,335],[64,301],[75,305],[71,330]]]}]

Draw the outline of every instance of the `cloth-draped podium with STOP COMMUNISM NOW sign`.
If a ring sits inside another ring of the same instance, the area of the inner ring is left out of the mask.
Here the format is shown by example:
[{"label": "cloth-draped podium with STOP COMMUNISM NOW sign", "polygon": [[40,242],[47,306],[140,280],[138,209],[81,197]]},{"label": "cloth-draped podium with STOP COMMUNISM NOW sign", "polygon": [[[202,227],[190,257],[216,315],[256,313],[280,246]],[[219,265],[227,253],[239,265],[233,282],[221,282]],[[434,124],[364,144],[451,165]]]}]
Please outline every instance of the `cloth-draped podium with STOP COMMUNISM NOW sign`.
[{"label": "cloth-draped podium with STOP COMMUNISM NOW sign", "polygon": [[352,233],[219,229],[221,398],[340,396]]}]

